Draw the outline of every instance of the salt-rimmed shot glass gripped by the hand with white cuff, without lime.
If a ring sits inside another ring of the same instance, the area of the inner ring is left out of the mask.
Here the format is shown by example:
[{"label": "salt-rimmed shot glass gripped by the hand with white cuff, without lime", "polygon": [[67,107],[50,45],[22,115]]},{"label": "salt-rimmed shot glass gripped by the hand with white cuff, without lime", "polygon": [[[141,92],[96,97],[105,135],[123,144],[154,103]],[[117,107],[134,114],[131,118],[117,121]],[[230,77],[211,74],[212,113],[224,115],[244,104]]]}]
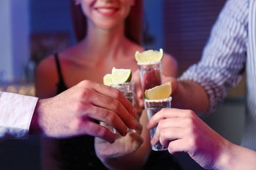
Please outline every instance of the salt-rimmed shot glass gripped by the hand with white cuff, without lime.
[{"label": "salt-rimmed shot glass gripped by the hand with white cuff, without lime", "polygon": [[[110,87],[116,88],[120,90],[123,95],[134,105],[133,94],[135,88],[135,82],[110,82]],[[114,133],[118,133],[118,131],[113,128]],[[133,129],[127,127],[127,133],[132,133]]]}]

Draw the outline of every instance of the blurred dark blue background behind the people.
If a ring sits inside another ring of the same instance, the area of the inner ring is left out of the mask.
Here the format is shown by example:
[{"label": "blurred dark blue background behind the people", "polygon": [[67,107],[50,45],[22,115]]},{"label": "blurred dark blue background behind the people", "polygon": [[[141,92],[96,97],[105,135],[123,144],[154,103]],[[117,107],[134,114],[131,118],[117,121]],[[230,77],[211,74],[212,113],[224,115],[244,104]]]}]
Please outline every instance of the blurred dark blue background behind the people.
[{"label": "blurred dark blue background behind the people", "polygon": [[[179,75],[201,58],[211,26],[225,1],[145,0],[144,46],[172,54]],[[0,91],[35,95],[34,71],[41,59],[75,44],[70,0],[0,1]],[[244,125],[244,79],[204,121],[240,144]],[[41,169],[39,138],[0,143],[1,169]],[[179,154],[184,169],[202,169]]]}]

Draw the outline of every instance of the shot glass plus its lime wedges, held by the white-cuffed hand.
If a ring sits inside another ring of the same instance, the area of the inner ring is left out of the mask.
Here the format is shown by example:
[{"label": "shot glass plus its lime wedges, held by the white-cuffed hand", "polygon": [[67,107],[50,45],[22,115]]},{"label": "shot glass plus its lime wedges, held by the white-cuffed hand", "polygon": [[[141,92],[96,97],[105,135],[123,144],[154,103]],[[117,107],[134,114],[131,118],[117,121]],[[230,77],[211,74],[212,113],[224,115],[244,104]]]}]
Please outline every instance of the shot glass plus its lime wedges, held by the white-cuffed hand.
[{"label": "shot glass plus its lime wedges, held by the white-cuffed hand", "polygon": [[[135,90],[135,82],[131,82],[131,69],[116,69],[113,67],[112,74],[106,74],[103,78],[105,85],[119,90],[125,97],[134,104],[133,95]],[[113,127],[110,131],[118,134]],[[132,133],[133,129],[127,127],[127,133]]]}]

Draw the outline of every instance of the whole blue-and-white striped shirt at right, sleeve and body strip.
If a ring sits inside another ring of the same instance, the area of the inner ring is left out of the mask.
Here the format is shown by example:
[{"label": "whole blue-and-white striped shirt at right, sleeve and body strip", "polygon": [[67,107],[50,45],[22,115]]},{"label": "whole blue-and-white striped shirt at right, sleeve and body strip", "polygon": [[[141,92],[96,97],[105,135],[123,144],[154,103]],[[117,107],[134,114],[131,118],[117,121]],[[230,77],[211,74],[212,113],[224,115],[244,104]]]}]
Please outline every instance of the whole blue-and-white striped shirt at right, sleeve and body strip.
[{"label": "whole blue-and-white striped shirt at right, sleeve and body strip", "polygon": [[[179,80],[193,80],[209,95],[209,112],[223,103],[246,69],[246,116],[242,146],[256,150],[256,0],[226,1],[200,61]],[[245,67],[246,66],[246,67]]]}]

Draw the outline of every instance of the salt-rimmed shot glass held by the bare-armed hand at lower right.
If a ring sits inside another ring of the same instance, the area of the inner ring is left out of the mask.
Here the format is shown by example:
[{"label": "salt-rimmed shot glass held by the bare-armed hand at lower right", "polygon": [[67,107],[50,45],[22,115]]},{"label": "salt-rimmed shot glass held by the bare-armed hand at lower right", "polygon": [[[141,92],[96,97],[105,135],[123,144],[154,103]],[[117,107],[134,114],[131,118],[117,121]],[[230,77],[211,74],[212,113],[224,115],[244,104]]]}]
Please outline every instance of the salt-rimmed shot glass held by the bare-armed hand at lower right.
[{"label": "salt-rimmed shot glass held by the bare-armed hand at lower right", "polygon": [[[150,120],[150,118],[152,118],[152,116],[154,116],[154,114],[159,112],[161,109],[171,108],[171,99],[172,99],[171,97],[169,97],[167,99],[161,99],[161,100],[145,99],[145,103],[146,103],[145,106],[146,106],[146,110],[148,113],[148,120]],[[156,125],[156,127],[158,127],[158,125]],[[151,139],[154,136],[154,134],[156,133],[156,127],[154,127],[153,129],[150,129]],[[168,150],[168,148],[161,145],[161,143],[158,143],[156,145],[152,145],[152,150],[162,151],[162,150]]]}]

